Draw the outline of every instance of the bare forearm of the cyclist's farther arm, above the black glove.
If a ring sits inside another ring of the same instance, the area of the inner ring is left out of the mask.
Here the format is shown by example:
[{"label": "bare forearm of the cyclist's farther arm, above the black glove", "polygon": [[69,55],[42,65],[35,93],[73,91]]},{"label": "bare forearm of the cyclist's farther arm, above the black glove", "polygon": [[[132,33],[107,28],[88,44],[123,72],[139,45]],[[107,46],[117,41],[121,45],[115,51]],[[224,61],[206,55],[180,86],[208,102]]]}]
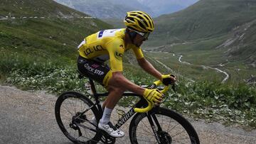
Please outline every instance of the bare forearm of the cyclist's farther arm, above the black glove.
[{"label": "bare forearm of the cyclist's farther arm, above the black glove", "polygon": [[149,61],[147,61],[144,57],[137,59],[139,66],[142,67],[143,70],[153,75],[157,79],[161,79],[161,73],[154,68],[153,65]]}]

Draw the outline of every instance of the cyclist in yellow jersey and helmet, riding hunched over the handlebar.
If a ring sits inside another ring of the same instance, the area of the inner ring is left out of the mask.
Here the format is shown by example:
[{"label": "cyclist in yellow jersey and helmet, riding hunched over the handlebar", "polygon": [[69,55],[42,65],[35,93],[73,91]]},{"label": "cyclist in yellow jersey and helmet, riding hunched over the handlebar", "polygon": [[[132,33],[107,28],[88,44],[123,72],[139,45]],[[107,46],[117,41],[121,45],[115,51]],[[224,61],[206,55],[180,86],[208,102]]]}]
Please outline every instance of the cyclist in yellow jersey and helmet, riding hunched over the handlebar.
[{"label": "cyclist in yellow jersey and helmet, riding hunched over the handlebar", "polygon": [[[143,11],[129,11],[124,18],[127,28],[103,30],[87,36],[78,46],[78,70],[87,77],[100,82],[109,95],[102,104],[104,109],[98,128],[106,131],[113,137],[122,137],[124,132],[112,126],[110,116],[114,106],[128,90],[141,94],[147,101],[159,104],[162,94],[156,89],[145,89],[130,82],[122,74],[122,59],[124,52],[132,49],[137,62],[143,70],[160,79],[164,84],[175,82],[170,74],[161,74],[145,58],[140,46],[154,31],[154,23],[147,13]],[[110,67],[105,64],[110,60]]]}]

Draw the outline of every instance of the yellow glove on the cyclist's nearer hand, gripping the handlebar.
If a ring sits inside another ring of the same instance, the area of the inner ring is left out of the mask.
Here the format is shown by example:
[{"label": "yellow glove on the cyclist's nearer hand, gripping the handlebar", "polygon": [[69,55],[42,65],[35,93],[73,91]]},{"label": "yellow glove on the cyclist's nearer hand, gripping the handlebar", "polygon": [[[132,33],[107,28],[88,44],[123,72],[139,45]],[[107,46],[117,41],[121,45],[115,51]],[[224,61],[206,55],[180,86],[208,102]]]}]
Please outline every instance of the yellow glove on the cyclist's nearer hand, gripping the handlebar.
[{"label": "yellow glove on the cyclist's nearer hand, gripping the handlebar", "polygon": [[151,103],[160,103],[163,97],[161,92],[157,91],[157,89],[145,89],[143,96]]}]

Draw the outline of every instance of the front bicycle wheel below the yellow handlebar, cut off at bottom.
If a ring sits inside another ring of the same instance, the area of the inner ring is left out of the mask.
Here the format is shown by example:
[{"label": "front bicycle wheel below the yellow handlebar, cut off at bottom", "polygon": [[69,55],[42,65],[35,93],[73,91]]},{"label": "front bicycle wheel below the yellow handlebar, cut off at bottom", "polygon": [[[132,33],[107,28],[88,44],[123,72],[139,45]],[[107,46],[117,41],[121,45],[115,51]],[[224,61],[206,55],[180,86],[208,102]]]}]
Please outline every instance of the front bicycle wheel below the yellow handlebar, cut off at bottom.
[{"label": "front bicycle wheel below the yellow handlebar, cut off at bottom", "polygon": [[[157,130],[157,135],[159,135],[160,143],[200,143],[198,134],[186,118],[183,118],[183,116],[170,109],[159,108],[157,111],[152,111],[153,112],[149,111],[149,113],[137,113],[134,118],[132,118],[129,126],[129,138],[132,144],[158,143],[155,136],[156,133],[153,133],[153,127],[150,126],[147,116],[156,116],[161,126],[162,131],[159,131],[158,126],[154,126]],[[156,125],[155,120],[154,125]],[[146,133],[143,133],[144,131],[146,131]],[[177,137],[179,134],[182,135]],[[150,135],[153,138],[150,138]]]}]

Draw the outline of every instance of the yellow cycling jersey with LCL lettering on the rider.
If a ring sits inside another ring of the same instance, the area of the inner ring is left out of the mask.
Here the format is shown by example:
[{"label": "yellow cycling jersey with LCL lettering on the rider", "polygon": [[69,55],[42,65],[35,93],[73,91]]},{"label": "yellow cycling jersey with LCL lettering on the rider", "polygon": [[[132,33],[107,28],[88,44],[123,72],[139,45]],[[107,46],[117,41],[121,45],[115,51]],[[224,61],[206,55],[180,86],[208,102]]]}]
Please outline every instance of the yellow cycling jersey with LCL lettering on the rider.
[{"label": "yellow cycling jersey with LCL lettering on the rider", "polygon": [[103,30],[89,35],[78,46],[82,57],[105,62],[110,60],[112,72],[122,71],[122,58],[124,52],[132,49],[137,59],[144,57],[142,49],[136,45],[124,45],[125,28]]}]

